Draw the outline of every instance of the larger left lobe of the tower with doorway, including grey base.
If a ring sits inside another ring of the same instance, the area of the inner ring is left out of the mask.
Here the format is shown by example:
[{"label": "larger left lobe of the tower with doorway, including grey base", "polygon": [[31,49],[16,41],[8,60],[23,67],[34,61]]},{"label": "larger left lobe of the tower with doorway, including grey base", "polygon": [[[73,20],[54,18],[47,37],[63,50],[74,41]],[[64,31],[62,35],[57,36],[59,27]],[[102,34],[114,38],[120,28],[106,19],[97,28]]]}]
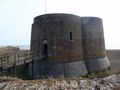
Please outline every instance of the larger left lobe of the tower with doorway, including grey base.
[{"label": "larger left lobe of the tower with doorway, including grey base", "polygon": [[36,57],[47,56],[40,63],[40,75],[87,74],[79,16],[46,14],[36,17],[32,25],[31,51]]}]

